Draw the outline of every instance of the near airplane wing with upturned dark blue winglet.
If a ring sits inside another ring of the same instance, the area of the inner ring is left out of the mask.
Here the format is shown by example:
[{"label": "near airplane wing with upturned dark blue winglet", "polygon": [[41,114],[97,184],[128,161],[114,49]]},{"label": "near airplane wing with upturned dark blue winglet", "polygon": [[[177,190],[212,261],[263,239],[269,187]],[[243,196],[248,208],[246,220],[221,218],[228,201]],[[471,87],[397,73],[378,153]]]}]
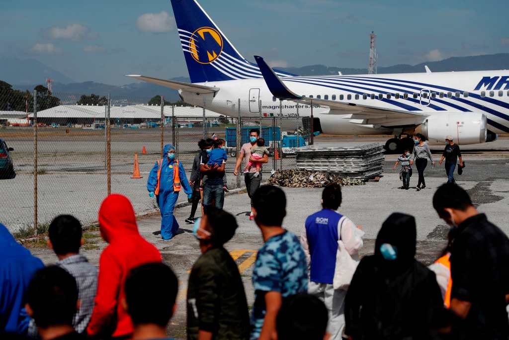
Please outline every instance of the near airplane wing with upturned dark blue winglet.
[{"label": "near airplane wing with upturned dark blue winglet", "polygon": [[[329,114],[347,115],[343,118],[362,125],[382,124],[384,126],[412,125],[421,123],[429,116],[426,112],[410,112],[405,110],[383,109],[369,105],[341,102],[337,100],[309,98],[292,92],[267,65],[262,57],[254,56],[262,72],[265,83],[272,95],[278,99],[294,100],[305,104],[314,104],[330,108]],[[414,123],[415,121],[415,123]]]}]

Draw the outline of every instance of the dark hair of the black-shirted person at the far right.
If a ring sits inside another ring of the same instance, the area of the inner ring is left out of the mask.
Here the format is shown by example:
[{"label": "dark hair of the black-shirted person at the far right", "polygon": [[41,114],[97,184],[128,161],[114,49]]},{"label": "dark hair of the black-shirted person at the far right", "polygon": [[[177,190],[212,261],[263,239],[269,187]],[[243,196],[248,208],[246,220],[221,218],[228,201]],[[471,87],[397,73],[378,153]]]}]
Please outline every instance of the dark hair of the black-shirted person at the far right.
[{"label": "dark hair of the black-shirted person at the far right", "polygon": [[441,185],[433,195],[433,207],[439,216],[445,215],[444,208],[465,211],[472,205],[468,193],[455,183]]}]

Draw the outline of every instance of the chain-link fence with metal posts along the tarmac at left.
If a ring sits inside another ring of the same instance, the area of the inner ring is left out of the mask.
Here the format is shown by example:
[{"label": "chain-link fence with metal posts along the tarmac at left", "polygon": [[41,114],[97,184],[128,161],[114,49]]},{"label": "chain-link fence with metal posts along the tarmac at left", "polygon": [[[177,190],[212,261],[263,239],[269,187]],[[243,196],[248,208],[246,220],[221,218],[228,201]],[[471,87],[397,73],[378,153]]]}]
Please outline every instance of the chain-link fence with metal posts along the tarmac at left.
[{"label": "chain-link fence with metal posts along the tarmac at left", "polygon": [[138,214],[155,210],[146,184],[164,144],[176,146],[189,176],[197,142],[224,139],[228,186],[234,189],[243,184],[245,163],[238,176],[233,172],[249,129],[261,130],[270,151],[266,173],[295,167],[295,148],[309,139],[298,108],[280,104],[274,112],[273,102],[205,100],[189,107],[160,97],[41,92],[0,92],[0,223],[26,236],[44,231],[59,214],[95,222],[108,193],[129,197]]}]

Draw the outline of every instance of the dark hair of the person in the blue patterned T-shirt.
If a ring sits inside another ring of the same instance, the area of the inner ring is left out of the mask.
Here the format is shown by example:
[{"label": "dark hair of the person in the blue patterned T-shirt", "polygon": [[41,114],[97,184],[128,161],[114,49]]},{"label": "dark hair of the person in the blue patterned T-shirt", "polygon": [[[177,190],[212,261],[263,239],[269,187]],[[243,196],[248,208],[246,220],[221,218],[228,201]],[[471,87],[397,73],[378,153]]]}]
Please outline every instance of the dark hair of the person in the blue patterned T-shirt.
[{"label": "dark hair of the person in the blue patterned T-shirt", "polygon": [[285,192],[278,187],[263,186],[253,195],[257,223],[266,226],[280,226],[286,216]]}]

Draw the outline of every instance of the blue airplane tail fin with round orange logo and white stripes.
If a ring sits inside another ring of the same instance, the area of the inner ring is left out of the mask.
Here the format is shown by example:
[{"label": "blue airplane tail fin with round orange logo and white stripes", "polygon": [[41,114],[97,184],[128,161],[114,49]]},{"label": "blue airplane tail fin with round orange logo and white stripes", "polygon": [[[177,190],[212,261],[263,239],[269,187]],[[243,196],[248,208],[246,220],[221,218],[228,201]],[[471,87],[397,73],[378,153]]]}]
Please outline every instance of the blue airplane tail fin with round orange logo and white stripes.
[{"label": "blue airplane tail fin with round orange logo and white stripes", "polygon": [[[262,78],[196,0],[171,0],[192,83]],[[274,70],[278,76],[295,75]]]}]

